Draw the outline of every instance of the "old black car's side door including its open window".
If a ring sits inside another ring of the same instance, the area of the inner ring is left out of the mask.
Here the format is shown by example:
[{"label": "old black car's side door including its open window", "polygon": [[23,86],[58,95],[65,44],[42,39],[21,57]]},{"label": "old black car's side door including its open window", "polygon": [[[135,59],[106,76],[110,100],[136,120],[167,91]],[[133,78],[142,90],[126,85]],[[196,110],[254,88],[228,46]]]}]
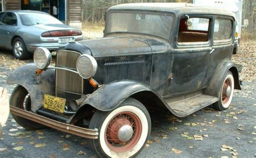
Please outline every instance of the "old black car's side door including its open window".
[{"label": "old black car's side door including its open window", "polygon": [[[186,25],[190,19],[191,26]],[[210,61],[213,17],[183,15],[179,19],[176,46],[172,52],[172,68],[166,95],[178,95],[204,88]]]}]

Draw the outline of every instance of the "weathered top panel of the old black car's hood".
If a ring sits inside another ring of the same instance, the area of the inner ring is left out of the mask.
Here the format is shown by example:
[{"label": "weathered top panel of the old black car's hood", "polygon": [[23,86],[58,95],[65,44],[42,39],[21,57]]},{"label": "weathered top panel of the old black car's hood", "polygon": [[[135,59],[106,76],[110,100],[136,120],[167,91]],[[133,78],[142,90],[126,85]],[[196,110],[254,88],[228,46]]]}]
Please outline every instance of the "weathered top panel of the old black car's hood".
[{"label": "weathered top panel of the old black car's hood", "polygon": [[[153,42],[154,41],[154,42]],[[156,40],[129,37],[105,37],[79,42],[90,49],[93,57],[129,56],[156,52]],[[166,45],[161,43],[160,45]],[[158,43],[159,47],[159,43]],[[163,47],[161,47],[163,49]]]}]

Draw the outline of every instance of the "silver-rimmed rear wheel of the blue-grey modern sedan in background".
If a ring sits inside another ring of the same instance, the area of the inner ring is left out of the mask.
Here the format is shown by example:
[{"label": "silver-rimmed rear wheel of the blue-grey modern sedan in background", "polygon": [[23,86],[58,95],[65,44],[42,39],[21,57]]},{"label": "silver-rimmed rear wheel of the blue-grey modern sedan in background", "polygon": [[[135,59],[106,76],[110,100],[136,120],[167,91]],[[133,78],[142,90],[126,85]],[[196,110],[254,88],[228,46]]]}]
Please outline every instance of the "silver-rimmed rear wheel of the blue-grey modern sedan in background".
[{"label": "silver-rimmed rear wheel of the blue-grey modern sedan in background", "polygon": [[31,53],[26,50],[26,45],[22,38],[15,38],[14,43],[12,43],[12,53],[16,59],[25,60],[32,56]]}]

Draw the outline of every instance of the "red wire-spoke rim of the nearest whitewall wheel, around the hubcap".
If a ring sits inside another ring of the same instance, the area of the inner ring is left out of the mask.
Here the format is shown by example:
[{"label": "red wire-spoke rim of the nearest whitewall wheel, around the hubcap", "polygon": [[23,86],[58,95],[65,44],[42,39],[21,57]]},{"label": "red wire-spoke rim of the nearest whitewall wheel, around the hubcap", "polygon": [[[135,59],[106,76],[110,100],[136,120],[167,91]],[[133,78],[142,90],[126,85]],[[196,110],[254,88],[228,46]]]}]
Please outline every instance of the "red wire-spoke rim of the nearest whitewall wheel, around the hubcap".
[{"label": "red wire-spoke rim of the nearest whitewall wheel, around the hubcap", "polygon": [[[131,138],[128,141],[118,139],[118,131],[124,126],[129,125],[133,129]],[[105,130],[105,142],[113,152],[124,153],[137,145],[142,135],[142,122],[139,117],[131,112],[118,113],[109,121]]]}]

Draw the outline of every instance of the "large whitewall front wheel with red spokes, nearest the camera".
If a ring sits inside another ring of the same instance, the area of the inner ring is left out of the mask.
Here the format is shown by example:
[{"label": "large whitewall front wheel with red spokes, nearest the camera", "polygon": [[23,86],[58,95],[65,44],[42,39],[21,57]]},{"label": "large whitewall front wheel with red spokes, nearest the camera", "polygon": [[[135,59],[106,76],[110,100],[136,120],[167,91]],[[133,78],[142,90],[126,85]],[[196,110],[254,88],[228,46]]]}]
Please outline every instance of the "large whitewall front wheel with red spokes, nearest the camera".
[{"label": "large whitewall front wheel with red spokes, nearest the camera", "polygon": [[149,112],[136,99],[126,99],[110,112],[96,111],[91,129],[98,129],[99,138],[93,147],[103,157],[133,157],[145,146],[151,132]]}]

